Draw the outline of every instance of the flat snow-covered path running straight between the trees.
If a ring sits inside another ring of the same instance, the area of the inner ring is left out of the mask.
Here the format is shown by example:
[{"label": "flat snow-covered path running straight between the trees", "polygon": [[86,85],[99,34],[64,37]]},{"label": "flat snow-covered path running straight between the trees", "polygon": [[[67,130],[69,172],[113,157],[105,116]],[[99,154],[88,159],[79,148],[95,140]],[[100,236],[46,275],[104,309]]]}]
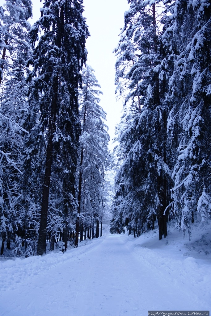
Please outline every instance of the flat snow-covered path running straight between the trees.
[{"label": "flat snow-covered path running straight between the trees", "polygon": [[[140,259],[123,237],[102,237],[92,247],[73,249],[76,255],[61,254],[50,268],[44,262],[37,274],[13,278],[10,288],[0,293],[0,315],[144,316],[148,310],[209,309],[208,298],[197,288],[200,281],[188,285],[176,279],[171,264],[170,270],[162,268],[161,257],[147,252],[148,259],[143,259],[144,248]],[[7,268],[8,276],[10,272],[18,274],[17,266]]]}]

